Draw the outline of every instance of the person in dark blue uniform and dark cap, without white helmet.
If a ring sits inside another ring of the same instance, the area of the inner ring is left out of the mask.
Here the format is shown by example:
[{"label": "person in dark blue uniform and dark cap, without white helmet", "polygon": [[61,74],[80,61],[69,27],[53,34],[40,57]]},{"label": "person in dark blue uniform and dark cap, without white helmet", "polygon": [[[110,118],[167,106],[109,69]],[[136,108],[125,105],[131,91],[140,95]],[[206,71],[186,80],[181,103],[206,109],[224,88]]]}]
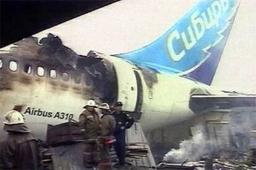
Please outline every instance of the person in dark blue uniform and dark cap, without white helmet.
[{"label": "person in dark blue uniform and dark cap, without white helmet", "polygon": [[129,129],[134,124],[134,119],[122,111],[122,102],[116,102],[114,108],[113,116],[116,119],[116,130],[114,132],[116,142],[114,149],[116,150],[119,165],[124,166],[124,159],[126,157],[126,129]]}]

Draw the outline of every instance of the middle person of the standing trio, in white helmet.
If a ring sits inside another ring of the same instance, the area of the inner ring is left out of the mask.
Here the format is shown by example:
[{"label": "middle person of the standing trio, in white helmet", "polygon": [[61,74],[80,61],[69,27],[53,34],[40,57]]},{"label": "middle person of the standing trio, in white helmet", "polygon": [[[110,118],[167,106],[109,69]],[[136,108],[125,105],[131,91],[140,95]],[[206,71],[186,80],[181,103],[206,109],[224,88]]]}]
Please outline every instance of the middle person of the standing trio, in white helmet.
[{"label": "middle person of the standing trio, in white helmet", "polygon": [[101,149],[99,169],[111,169],[111,156],[109,149],[114,144],[114,130],[116,121],[114,116],[110,114],[108,103],[101,103],[98,107],[101,121]]}]

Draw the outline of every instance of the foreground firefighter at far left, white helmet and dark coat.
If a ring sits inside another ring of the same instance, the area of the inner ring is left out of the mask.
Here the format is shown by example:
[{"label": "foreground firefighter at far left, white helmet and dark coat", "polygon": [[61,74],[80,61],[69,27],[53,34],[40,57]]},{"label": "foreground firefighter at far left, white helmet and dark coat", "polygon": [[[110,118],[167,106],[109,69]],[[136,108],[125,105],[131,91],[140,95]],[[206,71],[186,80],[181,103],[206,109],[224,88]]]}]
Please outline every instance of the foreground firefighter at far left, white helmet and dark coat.
[{"label": "foreground firefighter at far left, white helmet and dark coat", "polygon": [[0,169],[40,169],[37,140],[25,126],[22,113],[16,110],[4,115],[7,139],[1,143]]}]

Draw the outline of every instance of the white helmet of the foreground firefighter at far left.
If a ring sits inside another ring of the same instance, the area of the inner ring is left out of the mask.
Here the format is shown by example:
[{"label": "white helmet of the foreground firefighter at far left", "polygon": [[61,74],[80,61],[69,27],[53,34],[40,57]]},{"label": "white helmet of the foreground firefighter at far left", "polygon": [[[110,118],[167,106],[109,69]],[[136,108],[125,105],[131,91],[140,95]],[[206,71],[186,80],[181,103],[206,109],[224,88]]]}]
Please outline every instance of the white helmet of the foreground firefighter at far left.
[{"label": "white helmet of the foreground firefighter at far left", "polygon": [[8,111],[4,114],[4,124],[20,124],[25,123],[22,113],[16,110]]}]

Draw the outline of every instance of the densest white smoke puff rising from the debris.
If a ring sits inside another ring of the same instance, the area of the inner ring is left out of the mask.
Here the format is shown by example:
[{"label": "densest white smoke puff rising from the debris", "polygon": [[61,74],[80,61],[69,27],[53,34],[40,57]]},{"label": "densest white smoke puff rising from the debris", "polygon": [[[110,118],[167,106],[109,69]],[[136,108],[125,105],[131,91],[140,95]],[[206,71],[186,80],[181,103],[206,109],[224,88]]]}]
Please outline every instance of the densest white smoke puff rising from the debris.
[{"label": "densest white smoke puff rising from the debris", "polygon": [[197,161],[203,155],[212,153],[216,148],[215,143],[205,139],[202,131],[198,131],[192,139],[183,140],[179,149],[172,149],[164,156],[164,161],[183,162],[186,160]]}]

